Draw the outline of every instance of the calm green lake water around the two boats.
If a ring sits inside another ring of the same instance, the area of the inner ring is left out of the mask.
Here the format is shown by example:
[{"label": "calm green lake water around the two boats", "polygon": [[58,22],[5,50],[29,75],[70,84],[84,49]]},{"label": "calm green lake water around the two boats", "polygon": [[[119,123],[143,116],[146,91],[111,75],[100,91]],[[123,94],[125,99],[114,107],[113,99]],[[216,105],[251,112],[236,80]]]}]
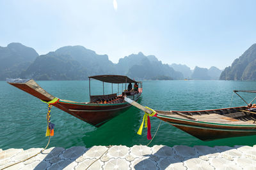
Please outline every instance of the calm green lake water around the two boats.
[{"label": "calm green lake water around the two boats", "polygon": [[[38,84],[53,96],[73,101],[88,101],[88,81],[38,81]],[[44,147],[47,106],[5,81],[0,81],[0,148]],[[117,86],[114,85],[114,89]],[[119,89],[122,89],[120,85]],[[205,110],[230,106],[232,90],[256,90],[254,81],[143,81],[140,104],[156,110]],[[105,94],[111,92],[106,85]],[[102,93],[102,82],[92,82],[92,94]],[[254,94],[255,95],[255,94]],[[250,101],[253,94],[242,94]],[[232,106],[244,102],[234,96]],[[147,130],[142,136],[136,134],[143,118],[143,112],[130,108],[113,118],[102,127],[72,117],[52,107],[51,122],[55,124],[54,137],[50,146],[69,148],[71,146],[93,145],[147,145]],[[151,118],[152,135],[160,120]],[[165,122],[161,123],[152,145],[254,145],[256,136],[200,141]]]}]

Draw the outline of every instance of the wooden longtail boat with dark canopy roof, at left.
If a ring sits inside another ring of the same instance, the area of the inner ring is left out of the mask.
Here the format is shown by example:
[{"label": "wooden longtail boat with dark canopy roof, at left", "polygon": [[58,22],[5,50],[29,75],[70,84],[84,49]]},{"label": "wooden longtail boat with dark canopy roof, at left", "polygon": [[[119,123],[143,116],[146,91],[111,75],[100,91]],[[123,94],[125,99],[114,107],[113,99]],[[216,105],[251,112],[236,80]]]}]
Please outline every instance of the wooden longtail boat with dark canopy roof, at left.
[{"label": "wooden longtail boat with dark canopy roof, at left", "polygon": [[[103,95],[91,95],[91,78],[103,82]],[[42,89],[42,87],[40,87],[33,79],[7,79],[7,82],[20,90],[24,90],[38,99],[41,99],[42,101],[49,102],[55,99],[54,96]],[[104,94],[104,82],[112,83],[112,94]],[[137,91],[121,91],[119,95],[119,85],[118,94],[113,94],[113,83],[125,83],[125,89],[126,83],[138,83],[139,87]],[[90,102],[79,103],[76,101],[60,99],[58,103],[52,105],[83,120],[84,122],[87,122],[88,124],[100,127],[104,123],[108,122],[108,120],[116,117],[131,106],[131,104],[124,101],[124,96],[131,97],[134,101],[139,99],[142,93],[142,83],[140,81],[131,80],[131,78],[128,78],[127,76],[120,75],[90,76],[89,89]]]}]

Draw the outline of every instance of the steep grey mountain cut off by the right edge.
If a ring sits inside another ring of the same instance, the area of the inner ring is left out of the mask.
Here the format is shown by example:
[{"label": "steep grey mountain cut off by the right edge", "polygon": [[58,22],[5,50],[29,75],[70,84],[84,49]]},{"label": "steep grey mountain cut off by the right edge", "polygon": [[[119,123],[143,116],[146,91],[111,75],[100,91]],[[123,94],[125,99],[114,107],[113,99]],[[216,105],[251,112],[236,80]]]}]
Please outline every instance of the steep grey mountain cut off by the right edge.
[{"label": "steep grey mountain cut off by the right edge", "polygon": [[256,80],[256,44],[221,73],[220,80]]}]

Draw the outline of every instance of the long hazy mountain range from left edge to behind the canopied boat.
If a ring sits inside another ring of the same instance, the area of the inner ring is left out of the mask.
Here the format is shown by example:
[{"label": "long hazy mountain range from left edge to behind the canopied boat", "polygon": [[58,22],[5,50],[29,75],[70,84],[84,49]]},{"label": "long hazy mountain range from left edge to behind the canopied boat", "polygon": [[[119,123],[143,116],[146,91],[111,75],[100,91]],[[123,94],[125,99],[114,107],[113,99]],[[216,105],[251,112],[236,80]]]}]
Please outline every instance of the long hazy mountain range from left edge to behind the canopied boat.
[{"label": "long hazy mountain range from left edge to behind the canopied boat", "polygon": [[55,52],[38,55],[20,43],[0,46],[0,80],[87,80],[96,74],[126,74],[142,80],[182,80],[183,74],[154,55],[131,54],[113,64],[108,55],[98,55],[83,46],[63,46]]}]

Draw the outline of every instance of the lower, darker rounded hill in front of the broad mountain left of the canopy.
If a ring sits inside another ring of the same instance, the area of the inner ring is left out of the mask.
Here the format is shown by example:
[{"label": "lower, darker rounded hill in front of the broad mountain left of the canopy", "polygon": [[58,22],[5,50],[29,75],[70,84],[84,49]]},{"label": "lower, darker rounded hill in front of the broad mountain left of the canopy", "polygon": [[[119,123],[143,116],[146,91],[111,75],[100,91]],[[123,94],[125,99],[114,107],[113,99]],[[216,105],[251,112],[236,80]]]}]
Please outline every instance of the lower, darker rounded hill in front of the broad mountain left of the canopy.
[{"label": "lower, darker rounded hill in front of the broad mountain left of the canopy", "polygon": [[88,72],[69,55],[49,52],[38,56],[26,71],[22,71],[20,77],[35,80],[86,80]]}]

